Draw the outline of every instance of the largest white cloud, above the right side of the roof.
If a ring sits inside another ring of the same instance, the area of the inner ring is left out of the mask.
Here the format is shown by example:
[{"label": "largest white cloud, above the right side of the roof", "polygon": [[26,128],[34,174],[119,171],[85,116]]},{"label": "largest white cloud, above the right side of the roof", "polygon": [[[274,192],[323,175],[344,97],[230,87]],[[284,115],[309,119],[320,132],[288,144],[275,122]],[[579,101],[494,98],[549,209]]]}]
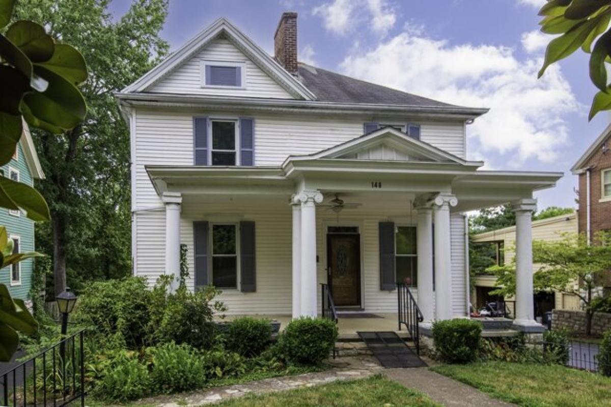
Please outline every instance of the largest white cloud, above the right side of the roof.
[{"label": "largest white cloud, above the right side of the roof", "polygon": [[340,69],[416,95],[490,107],[467,128],[469,137],[477,139],[478,155],[507,154],[507,168],[557,159],[568,139],[564,116],[580,108],[560,68],[552,65],[538,80],[540,66],[540,59],[518,60],[505,46],[450,45],[403,32],[370,51],[353,49]]}]

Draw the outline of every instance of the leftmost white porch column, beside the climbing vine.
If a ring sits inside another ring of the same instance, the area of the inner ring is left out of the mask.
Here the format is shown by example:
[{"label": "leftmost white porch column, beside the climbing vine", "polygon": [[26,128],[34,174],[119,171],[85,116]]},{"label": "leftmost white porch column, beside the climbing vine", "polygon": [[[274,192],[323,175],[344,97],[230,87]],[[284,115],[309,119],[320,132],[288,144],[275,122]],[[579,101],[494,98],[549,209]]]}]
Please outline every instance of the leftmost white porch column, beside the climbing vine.
[{"label": "leftmost white porch column, beside the climbing vine", "polygon": [[170,287],[174,292],[178,288],[178,278],[180,278],[180,204],[183,198],[177,192],[164,192],[161,200],[166,204],[165,273],[174,276]]}]

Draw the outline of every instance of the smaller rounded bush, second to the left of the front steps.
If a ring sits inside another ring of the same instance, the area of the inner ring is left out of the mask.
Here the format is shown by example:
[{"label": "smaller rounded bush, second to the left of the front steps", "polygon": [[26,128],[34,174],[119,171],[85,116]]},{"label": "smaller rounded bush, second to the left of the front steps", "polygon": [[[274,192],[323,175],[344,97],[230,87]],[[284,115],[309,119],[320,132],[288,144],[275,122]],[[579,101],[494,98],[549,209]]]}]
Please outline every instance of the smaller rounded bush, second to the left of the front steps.
[{"label": "smaller rounded bush, second to the left of the front steps", "polygon": [[227,328],[226,337],[228,350],[252,358],[268,348],[271,325],[267,319],[236,318]]}]

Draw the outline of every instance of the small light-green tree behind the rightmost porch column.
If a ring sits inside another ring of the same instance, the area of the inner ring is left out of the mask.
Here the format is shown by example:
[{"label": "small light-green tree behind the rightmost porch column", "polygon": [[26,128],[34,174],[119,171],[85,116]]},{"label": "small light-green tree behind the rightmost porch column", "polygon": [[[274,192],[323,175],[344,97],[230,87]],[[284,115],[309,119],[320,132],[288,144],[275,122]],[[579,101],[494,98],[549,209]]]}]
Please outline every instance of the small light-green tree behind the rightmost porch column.
[{"label": "small light-green tree behind the rightmost porch column", "polygon": [[[591,333],[592,315],[598,311],[596,281],[611,268],[611,233],[598,232],[595,244],[588,244],[583,234],[565,234],[562,240],[533,240],[533,262],[541,268],[533,274],[535,291],[555,290],[577,295],[585,304],[586,334]],[[515,262],[488,269],[497,276],[492,294],[516,293]]]}]

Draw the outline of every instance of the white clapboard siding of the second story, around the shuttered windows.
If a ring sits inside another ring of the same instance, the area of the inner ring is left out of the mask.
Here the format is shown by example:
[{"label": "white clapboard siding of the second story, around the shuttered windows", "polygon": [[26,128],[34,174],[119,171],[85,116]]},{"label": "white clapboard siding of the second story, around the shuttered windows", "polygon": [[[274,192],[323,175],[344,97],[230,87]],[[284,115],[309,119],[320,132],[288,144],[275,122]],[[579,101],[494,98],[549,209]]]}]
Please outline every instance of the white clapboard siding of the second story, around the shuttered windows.
[{"label": "white clapboard siding of the second story, around the shuttered windows", "polygon": [[[136,112],[136,207],[160,203],[145,165],[193,164],[193,116],[219,113]],[[230,113],[224,113],[226,116]],[[258,114],[255,119],[255,165],[279,166],[287,156],[312,154],[359,137],[366,118],[320,115]],[[236,116],[237,117],[237,116]],[[422,140],[464,157],[463,124],[422,123]],[[451,149],[454,148],[454,149]]]}]

